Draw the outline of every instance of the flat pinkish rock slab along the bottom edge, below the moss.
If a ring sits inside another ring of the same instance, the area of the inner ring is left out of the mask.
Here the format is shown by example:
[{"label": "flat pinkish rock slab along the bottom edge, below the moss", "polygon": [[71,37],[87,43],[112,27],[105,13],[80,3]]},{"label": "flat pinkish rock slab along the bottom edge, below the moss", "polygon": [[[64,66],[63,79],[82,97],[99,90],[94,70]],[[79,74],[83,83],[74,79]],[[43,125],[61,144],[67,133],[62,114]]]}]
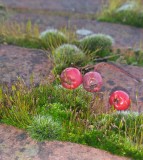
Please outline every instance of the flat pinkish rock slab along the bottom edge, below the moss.
[{"label": "flat pinkish rock slab along the bottom edge, below the moss", "polygon": [[36,142],[24,131],[0,125],[0,160],[127,160],[70,142]]}]

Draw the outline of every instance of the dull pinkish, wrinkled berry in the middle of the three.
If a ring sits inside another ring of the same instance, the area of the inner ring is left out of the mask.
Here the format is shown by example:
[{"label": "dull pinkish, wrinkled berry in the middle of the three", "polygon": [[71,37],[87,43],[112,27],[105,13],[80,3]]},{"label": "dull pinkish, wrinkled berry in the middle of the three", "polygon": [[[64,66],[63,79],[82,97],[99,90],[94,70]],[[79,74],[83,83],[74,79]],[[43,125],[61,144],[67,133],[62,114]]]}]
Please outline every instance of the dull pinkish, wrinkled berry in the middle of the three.
[{"label": "dull pinkish, wrinkled berry in the middle of the three", "polygon": [[83,87],[88,92],[98,92],[102,84],[102,77],[98,72],[88,72],[83,77]]}]

